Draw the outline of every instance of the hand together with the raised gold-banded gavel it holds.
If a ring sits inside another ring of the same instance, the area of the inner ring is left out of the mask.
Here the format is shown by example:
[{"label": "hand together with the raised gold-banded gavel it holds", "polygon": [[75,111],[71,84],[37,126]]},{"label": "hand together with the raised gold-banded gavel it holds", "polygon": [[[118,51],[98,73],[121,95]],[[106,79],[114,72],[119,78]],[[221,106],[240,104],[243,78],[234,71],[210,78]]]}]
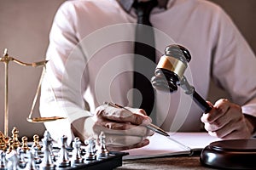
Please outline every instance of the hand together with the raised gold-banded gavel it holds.
[{"label": "hand together with the raised gold-banded gavel it holds", "polygon": [[186,48],[180,45],[166,47],[165,54],[155,69],[155,76],[151,79],[154,88],[168,93],[177,91],[178,86],[183,88],[185,94],[189,94],[205,112],[201,116],[201,122],[205,123],[205,129],[212,136],[221,139],[250,138],[255,124],[253,116],[243,114],[241,106],[231,103],[228,99],[218,99],[212,105],[189,85],[183,73],[190,59],[191,56]]}]

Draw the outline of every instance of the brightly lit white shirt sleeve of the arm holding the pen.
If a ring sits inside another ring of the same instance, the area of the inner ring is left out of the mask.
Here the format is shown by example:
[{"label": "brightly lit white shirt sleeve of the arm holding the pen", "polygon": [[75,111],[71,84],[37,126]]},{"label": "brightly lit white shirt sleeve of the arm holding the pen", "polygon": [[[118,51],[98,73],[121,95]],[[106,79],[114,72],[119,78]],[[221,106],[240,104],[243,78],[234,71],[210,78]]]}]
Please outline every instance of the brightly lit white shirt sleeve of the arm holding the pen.
[{"label": "brightly lit white shirt sleeve of the arm holding the pen", "polygon": [[[91,116],[84,110],[83,94],[86,88],[84,76],[85,58],[79,48],[74,22],[74,8],[63,3],[57,13],[49,34],[46,72],[41,88],[41,116],[67,117],[55,122],[44,122],[52,138],[62,135],[73,138],[71,123]],[[82,130],[82,129],[77,129]]]}]

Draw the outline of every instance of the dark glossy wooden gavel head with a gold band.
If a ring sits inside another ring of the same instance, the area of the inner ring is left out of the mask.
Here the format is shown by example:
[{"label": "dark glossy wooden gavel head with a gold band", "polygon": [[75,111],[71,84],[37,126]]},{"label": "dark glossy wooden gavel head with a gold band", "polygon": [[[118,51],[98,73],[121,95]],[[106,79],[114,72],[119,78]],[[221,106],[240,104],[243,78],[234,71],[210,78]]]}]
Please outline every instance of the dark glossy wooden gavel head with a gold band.
[{"label": "dark glossy wooden gavel head with a gold band", "polygon": [[189,50],[183,46],[167,46],[151,79],[153,87],[171,93],[177,91],[178,82],[183,77],[190,59]]}]

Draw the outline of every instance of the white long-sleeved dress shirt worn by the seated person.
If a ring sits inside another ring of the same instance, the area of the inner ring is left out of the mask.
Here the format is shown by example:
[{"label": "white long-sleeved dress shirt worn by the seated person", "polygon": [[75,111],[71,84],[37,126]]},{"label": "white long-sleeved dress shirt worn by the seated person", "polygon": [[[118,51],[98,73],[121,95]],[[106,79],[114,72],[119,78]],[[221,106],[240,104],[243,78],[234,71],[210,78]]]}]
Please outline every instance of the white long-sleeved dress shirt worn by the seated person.
[{"label": "white long-sleeved dress shirt worn by the seated person", "polygon": [[[205,0],[170,0],[166,10],[154,8],[150,20],[156,63],[167,45],[188,48],[192,59],[185,77],[196,92],[206,99],[212,77],[242,105],[243,113],[256,116],[256,59],[222,8]],[[114,0],[61,5],[49,35],[40,99],[41,116],[67,117],[44,123],[54,139],[71,137],[71,122],[92,116],[104,101],[131,106],[136,22],[134,11],[126,13]],[[201,130],[202,111],[183,89],[174,94],[157,91],[155,106],[152,118],[158,126],[168,131]]]}]

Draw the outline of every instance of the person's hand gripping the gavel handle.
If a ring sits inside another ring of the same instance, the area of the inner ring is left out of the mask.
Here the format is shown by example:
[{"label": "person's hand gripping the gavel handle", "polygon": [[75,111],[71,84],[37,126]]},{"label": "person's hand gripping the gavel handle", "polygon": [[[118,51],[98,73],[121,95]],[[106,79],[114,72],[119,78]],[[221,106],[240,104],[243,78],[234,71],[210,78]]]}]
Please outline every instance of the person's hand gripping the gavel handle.
[{"label": "person's hand gripping the gavel handle", "polygon": [[212,111],[201,116],[201,122],[205,123],[210,135],[221,139],[248,139],[253,132],[252,124],[241,112],[241,106],[228,99],[219,99],[212,105]]}]

